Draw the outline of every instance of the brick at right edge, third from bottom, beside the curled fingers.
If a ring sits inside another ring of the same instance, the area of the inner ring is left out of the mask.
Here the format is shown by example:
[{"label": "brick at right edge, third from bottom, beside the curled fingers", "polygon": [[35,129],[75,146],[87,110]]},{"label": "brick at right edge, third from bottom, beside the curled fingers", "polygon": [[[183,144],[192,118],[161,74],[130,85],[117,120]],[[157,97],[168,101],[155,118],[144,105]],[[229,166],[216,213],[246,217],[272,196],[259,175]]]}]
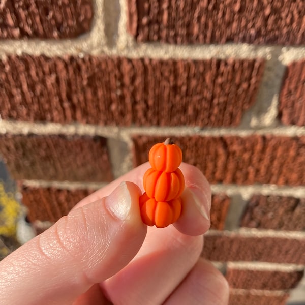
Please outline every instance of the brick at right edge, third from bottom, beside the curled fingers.
[{"label": "brick at right edge, third from bottom, beside the curled fingers", "polygon": [[202,255],[212,261],[305,264],[305,239],[206,235]]}]

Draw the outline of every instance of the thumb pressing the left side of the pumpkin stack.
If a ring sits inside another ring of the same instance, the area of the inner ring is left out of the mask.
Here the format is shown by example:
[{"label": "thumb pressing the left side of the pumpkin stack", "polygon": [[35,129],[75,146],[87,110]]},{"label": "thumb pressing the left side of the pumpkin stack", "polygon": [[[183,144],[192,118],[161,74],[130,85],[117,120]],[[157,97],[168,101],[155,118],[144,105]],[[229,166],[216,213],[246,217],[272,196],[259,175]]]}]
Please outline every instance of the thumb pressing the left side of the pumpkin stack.
[{"label": "thumb pressing the left side of the pumpkin stack", "polygon": [[61,218],[0,262],[2,304],[67,304],[126,266],[140,249],[139,188],[122,182],[108,197]]}]

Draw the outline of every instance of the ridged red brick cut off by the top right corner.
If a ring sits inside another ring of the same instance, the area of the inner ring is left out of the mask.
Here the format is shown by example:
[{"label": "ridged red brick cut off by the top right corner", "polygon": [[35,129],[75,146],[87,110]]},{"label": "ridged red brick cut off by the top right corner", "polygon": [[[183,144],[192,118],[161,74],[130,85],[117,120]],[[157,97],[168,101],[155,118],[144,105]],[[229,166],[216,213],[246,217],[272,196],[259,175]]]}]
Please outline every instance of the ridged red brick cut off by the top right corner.
[{"label": "ridged red brick cut off by the top right corner", "polygon": [[138,41],[305,43],[302,0],[128,0],[128,7],[128,31]]}]

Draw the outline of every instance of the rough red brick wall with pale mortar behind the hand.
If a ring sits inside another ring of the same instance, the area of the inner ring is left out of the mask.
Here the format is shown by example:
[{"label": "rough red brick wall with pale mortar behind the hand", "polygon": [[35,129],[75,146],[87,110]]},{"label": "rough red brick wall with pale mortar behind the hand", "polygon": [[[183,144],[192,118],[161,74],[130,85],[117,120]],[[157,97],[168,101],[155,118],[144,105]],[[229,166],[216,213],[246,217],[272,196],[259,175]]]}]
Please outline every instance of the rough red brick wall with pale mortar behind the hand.
[{"label": "rough red brick wall with pale mortar behind the hand", "polygon": [[305,265],[302,0],[0,3],[0,155],[56,221],[172,136],[211,183],[202,255],[231,304],[285,304]]}]

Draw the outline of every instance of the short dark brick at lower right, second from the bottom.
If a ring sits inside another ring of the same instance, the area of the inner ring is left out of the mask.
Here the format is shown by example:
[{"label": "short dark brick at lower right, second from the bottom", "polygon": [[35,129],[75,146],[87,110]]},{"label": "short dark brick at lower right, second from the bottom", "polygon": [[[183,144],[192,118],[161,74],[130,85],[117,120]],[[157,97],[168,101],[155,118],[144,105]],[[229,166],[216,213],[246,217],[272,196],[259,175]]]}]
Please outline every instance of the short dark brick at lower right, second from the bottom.
[{"label": "short dark brick at lower right, second from the bottom", "polygon": [[248,270],[227,268],[226,279],[231,288],[285,290],[295,288],[303,271]]}]

